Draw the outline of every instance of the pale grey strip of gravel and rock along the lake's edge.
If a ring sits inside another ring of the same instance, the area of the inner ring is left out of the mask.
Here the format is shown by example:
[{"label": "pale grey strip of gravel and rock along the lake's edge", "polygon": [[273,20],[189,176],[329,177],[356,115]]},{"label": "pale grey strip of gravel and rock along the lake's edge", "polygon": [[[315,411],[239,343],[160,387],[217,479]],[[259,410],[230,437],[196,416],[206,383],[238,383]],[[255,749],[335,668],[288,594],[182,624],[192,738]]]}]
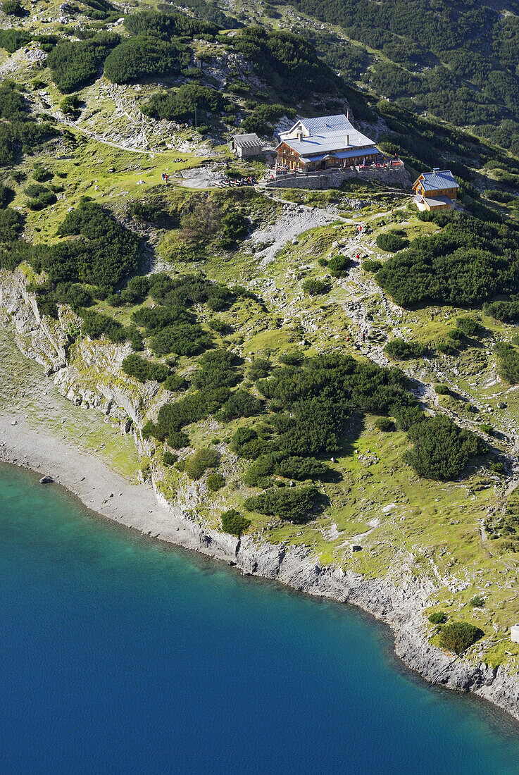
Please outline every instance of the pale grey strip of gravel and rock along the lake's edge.
[{"label": "pale grey strip of gravel and rock along the lake's edge", "polygon": [[404,589],[381,578],[321,567],[307,549],[285,549],[251,536],[236,539],[205,529],[150,485],[129,484],[95,456],[36,431],[15,415],[0,416],[0,460],[52,476],[88,508],[146,536],[223,560],[243,574],[362,608],[390,625],[395,653],[406,667],[432,683],[473,692],[519,720],[517,676],[502,667],[454,660],[428,642],[421,608],[430,590],[420,584],[407,584]]}]

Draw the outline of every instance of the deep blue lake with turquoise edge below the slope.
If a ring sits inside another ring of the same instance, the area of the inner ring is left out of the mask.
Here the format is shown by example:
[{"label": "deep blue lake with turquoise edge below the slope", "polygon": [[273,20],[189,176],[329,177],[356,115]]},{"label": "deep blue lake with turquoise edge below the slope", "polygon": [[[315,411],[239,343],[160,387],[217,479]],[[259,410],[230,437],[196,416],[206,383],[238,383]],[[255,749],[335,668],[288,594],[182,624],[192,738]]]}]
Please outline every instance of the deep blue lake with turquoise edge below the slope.
[{"label": "deep blue lake with turquoise edge below the slope", "polygon": [[0,772],[519,773],[519,727],[349,608],[0,467]]}]

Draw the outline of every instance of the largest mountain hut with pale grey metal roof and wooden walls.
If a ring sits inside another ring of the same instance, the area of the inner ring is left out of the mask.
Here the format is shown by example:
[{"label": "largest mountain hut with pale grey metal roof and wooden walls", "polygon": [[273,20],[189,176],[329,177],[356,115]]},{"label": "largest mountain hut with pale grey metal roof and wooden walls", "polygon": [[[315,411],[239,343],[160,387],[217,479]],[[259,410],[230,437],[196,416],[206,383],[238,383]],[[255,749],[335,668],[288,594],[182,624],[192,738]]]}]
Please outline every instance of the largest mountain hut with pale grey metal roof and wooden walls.
[{"label": "largest mountain hut with pale grey metal roof and wooden walls", "polygon": [[279,138],[278,164],[301,172],[359,167],[379,156],[373,140],[355,129],[344,113],[297,119]]}]

